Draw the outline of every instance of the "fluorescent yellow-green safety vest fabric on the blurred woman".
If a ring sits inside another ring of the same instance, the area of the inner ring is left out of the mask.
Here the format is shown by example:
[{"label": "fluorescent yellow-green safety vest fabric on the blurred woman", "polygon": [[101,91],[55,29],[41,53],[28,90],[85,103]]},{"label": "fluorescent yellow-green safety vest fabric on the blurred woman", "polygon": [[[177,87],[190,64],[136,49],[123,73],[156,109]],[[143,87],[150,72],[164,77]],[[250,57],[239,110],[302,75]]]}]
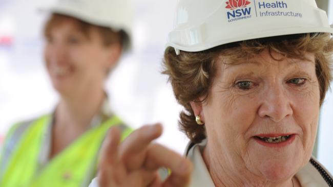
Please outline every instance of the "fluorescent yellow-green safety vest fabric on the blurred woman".
[{"label": "fluorescent yellow-green safety vest fabric on the blurred woman", "polygon": [[[81,186],[87,180],[88,173],[91,175],[91,170],[96,170],[98,151],[107,130],[121,124],[121,120],[114,116],[100,126],[88,130],[37,173],[38,154],[49,120],[49,115],[42,116],[22,135],[11,155],[0,186]],[[131,132],[130,128],[124,127],[120,125],[122,139]]]}]

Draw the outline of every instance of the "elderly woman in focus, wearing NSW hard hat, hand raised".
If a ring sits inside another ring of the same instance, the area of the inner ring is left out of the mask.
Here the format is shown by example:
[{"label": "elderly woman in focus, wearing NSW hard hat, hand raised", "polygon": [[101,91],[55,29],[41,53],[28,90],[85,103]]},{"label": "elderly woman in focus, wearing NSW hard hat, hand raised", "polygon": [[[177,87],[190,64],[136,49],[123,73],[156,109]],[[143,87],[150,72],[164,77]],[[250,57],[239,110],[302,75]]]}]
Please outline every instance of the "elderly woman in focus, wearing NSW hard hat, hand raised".
[{"label": "elderly woman in focus, wearing NSW hard hat, hand raised", "polygon": [[[110,131],[100,186],[333,186],[313,157],[333,30],[314,0],[181,0],[164,73],[184,106],[187,159],[145,126]],[[192,162],[192,165],[191,163]],[[170,168],[161,180],[157,170]]]}]

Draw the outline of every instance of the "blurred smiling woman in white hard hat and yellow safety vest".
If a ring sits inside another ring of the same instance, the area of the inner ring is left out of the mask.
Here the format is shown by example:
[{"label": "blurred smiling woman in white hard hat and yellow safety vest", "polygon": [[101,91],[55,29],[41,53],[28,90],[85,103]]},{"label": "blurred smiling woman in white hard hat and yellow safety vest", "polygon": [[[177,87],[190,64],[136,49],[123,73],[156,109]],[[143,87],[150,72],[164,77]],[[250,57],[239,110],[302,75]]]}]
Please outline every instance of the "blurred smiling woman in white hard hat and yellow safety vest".
[{"label": "blurred smiling woman in white hard hat and yellow safety vest", "polygon": [[130,128],[110,110],[103,84],[130,46],[127,1],[59,1],[45,25],[45,64],[59,102],[51,114],[14,125],[0,186],[87,186],[109,127]]}]

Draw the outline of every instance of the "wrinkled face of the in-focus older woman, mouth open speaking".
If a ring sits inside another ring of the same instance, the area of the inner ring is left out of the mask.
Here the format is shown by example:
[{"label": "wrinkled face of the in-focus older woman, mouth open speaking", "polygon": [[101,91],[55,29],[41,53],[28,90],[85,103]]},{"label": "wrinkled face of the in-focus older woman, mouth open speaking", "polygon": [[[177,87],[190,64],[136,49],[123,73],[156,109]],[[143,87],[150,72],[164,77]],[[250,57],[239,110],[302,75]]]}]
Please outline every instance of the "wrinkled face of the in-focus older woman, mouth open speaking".
[{"label": "wrinkled face of the in-focus older woman, mouth open speaking", "polygon": [[308,162],[320,94],[315,57],[307,58],[276,61],[263,52],[238,65],[220,60],[201,115],[209,154],[228,171],[278,181]]}]

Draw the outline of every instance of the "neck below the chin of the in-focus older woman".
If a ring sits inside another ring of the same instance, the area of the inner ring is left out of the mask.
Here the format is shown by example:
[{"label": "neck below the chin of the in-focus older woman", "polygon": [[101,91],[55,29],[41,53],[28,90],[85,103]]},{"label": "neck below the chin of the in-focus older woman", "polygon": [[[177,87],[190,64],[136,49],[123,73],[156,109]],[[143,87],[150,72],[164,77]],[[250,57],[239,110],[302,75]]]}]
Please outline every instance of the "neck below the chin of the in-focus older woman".
[{"label": "neck below the chin of the in-focus older woman", "polygon": [[[254,175],[249,171],[239,170],[238,166],[231,166],[228,161],[221,158],[221,154],[209,144],[203,150],[202,157],[205,165],[210,172],[211,178],[217,187],[226,186],[301,186],[296,177],[292,180],[289,178],[285,181],[272,182],[262,177]],[[240,163],[242,165],[243,163]],[[237,169],[236,169],[237,168]],[[239,171],[237,171],[239,170]],[[294,183],[294,184],[293,184]]]}]

